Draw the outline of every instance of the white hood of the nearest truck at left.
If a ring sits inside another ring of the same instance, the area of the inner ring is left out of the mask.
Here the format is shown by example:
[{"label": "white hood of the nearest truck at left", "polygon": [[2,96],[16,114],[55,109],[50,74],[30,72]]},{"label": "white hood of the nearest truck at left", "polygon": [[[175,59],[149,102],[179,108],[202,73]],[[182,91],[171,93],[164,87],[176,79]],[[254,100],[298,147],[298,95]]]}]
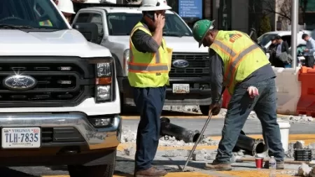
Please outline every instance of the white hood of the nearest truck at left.
[{"label": "white hood of the nearest truck at left", "polygon": [[0,55],[108,57],[111,52],[86,41],[76,29],[54,32],[0,29]]}]

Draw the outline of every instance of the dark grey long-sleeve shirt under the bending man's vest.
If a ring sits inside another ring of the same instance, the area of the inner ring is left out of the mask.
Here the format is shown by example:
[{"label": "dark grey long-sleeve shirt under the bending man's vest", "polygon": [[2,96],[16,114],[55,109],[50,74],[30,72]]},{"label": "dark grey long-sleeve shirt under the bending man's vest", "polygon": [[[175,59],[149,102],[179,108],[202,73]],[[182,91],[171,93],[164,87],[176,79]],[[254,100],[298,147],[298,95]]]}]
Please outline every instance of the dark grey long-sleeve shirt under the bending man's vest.
[{"label": "dark grey long-sleeve shirt under the bending man's vest", "polygon": [[[223,59],[212,49],[209,50],[210,59],[210,85],[211,85],[211,97],[212,103],[218,103],[220,95],[223,89],[223,75],[224,75],[224,63]],[[257,83],[269,78],[275,78],[276,74],[272,70],[270,64],[262,66],[260,69],[254,71],[245,80],[237,85],[250,85],[251,83]]]}]

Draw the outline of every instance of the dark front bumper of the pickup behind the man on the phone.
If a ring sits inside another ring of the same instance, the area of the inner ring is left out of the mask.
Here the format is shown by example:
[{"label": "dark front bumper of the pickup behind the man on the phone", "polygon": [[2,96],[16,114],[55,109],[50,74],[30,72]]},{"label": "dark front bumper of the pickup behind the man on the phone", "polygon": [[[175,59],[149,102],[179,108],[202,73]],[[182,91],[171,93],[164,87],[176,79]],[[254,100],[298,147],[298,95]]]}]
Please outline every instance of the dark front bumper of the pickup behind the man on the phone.
[{"label": "dark front bumper of the pickup behind the man on the phone", "polygon": [[[123,93],[123,103],[134,106],[132,97],[132,89],[126,77],[118,78],[120,92]],[[173,93],[173,84],[189,84],[190,92],[186,94]],[[167,87],[167,95],[165,106],[189,106],[189,105],[209,105],[211,104],[211,90],[209,78],[170,78],[169,86]]]}]

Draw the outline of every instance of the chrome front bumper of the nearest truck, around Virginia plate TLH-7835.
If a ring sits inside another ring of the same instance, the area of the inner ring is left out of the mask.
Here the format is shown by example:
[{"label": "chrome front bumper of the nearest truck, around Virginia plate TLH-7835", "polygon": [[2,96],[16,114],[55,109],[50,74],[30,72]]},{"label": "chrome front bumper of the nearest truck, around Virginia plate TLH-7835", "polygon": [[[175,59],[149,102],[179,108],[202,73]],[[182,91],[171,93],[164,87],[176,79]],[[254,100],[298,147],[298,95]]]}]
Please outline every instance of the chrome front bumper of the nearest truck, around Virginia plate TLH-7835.
[{"label": "chrome front bumper of the nearest truck, around Virginia plate TLH-7835", "polygon": [[[94,127],[93,119],[108,119]],[[87,116],[84,113],[1,113],[1,127],[41,127],[41,147],[85,146],[87,150],[114,148],[120,143],[119,115]]]}]

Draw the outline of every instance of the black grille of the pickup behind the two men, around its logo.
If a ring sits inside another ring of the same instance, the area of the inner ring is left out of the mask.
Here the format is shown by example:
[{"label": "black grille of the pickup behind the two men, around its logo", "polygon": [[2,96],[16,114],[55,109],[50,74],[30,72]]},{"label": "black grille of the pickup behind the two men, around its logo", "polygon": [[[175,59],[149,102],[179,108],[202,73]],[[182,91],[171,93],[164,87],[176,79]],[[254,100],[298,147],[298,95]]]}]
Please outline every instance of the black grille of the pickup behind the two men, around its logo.
[{"label": "black grille of the pickup behind the two men, around its logo", "polygon": [[185,59],[189,62],[186,69],[174,68],[172,64],[169,77],[202,77],[209,76],[209,55],[208,53],[173,53],[172,61]]}]

